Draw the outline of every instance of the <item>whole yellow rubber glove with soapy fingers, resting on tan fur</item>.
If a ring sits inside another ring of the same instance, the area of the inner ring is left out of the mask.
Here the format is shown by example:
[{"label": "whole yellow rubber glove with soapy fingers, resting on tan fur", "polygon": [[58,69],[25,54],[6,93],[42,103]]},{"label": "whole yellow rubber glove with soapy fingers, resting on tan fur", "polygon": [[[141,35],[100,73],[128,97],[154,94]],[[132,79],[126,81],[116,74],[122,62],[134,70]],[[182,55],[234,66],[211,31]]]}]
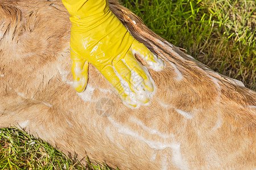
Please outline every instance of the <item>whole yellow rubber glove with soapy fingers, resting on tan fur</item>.
[{"label": "whole yellow rubber glove with soapy fingers, resting on tan fur", "polygon": [[141,56],[154,70],[164,63],[130,35],[110,11],[106,0],[63,0],[70,14],[73,86],[85,89],[88,62],[118,91],[123,103],[138,107],[150,100],[153,80],[146,67],[134,58]]}]

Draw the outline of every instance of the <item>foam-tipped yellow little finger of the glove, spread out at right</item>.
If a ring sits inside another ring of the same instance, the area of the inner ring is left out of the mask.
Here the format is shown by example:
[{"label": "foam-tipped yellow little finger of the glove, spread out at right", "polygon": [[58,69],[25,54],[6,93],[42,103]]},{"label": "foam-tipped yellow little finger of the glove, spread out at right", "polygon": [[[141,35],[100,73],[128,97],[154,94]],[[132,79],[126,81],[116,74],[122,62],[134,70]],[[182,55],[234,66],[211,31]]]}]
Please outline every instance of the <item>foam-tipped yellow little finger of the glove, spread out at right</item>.
[{"label": "foam-tipped yellow little finger of the glove, spread out at right", "polygon": [[133,44],[131,44],[130,50],[131,52],[133,52],[134,55],[137,54],[145,62],[147,62],[148,65],[150,65],[151,69],[155,71],[160,71],[163,69],[164,62],[162,61],[162,59],[152,54],[150,50],[148,50],[147,47],[141,42],[134,40]]}]

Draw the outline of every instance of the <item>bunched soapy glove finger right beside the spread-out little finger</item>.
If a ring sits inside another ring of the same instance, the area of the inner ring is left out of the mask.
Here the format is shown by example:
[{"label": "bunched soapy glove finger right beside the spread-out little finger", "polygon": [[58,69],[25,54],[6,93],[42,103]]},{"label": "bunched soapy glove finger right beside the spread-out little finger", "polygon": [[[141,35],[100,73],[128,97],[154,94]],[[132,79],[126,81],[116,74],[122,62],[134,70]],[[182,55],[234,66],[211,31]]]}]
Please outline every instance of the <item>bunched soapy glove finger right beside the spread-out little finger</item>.
[{"label": "bunched soapy glove finger right beside the spread-out little finger", "polygon": [[131,53],[130,50],[126,53],[124,61],[125,61],[125,64],[131,70],[131,74],[132,74],[131,79],[133,80],[137,90],[138,88],[141,88],[144,86],[148,91],[150,92],[154,91],[153,84],[150,80],[150,77],[151,77],[150,73],[148,72],[146,67],[142,66],[141,63],[139,63],[137,59],[133,57],[133,53]]}]

